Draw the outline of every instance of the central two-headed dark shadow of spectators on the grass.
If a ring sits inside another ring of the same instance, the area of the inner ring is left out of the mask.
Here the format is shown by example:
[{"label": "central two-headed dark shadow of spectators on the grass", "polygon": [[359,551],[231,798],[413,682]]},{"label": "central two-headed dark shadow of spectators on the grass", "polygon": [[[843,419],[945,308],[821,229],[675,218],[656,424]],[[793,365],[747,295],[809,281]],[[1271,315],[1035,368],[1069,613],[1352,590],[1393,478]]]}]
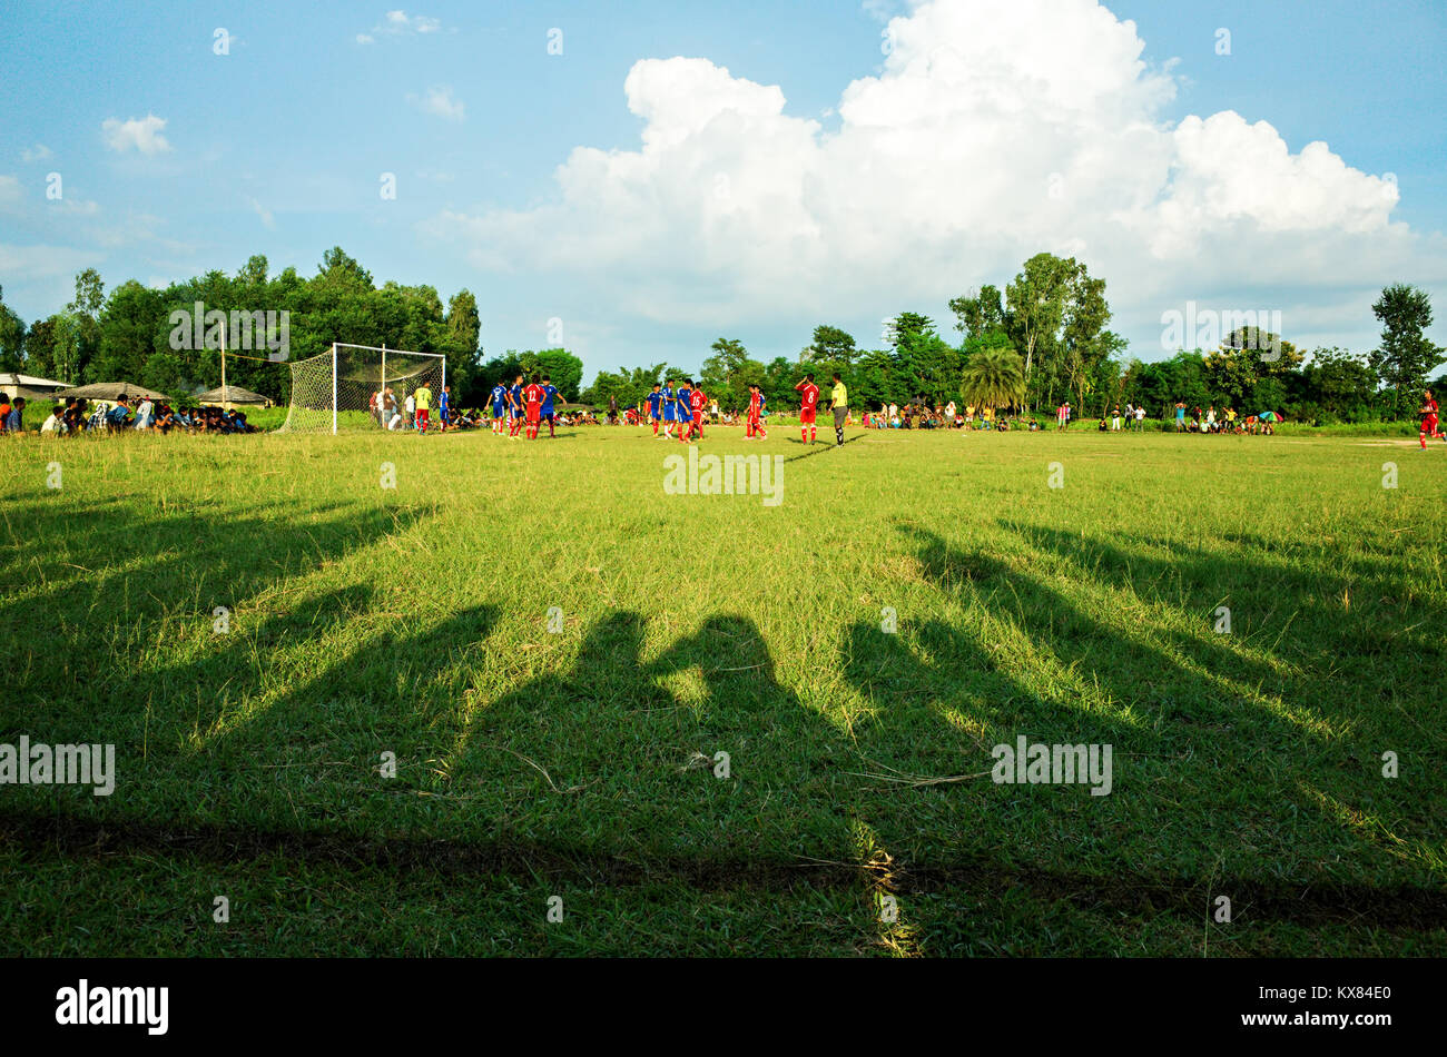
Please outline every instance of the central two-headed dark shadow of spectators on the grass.
[{"label": "central two-headed dark shadow of spectators on the grass", "polygon": [[[819,810],[836,800],[846,746],[777,681],[752,622],[710,617],[648,664],[642,645],[642,616],[612,613],[569,671],[473,709],[446,765],[451,788],[512,831],[624,856],[728,857],[738,840],[763,855],[848,847],[848,820]],[[696,707],[660,684],[679,675],[702,678]]]}]

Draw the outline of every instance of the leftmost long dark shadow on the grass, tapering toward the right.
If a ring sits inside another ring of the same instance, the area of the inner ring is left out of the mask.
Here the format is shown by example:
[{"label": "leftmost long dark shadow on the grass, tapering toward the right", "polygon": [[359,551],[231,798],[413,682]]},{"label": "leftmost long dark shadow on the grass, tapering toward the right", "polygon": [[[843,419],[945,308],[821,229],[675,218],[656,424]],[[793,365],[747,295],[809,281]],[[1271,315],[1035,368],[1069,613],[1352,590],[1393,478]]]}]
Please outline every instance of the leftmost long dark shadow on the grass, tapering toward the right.
[{"label": "leftmost long dark shadow on the grass, tapering toward the right", "polygon": [[[156,639],[210,636],[216,606],[237,625],[255,619],[246,607],[258,593],[341,562],[421,515],[360,503],[156,515],[116,502],[32,502],[10,516],[45,580],[0,600],[12,669],[0,717],[13,716],[0,727],[23,719],[35,733],[56,713],[106,714],[135,700],[146,675],[137,654]],[[155,630],[162,620],[166,630]]]}]

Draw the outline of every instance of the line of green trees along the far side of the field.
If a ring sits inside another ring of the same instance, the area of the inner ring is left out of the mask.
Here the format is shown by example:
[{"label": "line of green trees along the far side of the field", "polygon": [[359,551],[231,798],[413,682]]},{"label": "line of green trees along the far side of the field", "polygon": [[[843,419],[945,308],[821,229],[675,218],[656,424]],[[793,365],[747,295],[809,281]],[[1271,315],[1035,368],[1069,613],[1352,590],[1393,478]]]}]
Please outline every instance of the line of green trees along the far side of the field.
[{"label": "line of green trees along the far side of the field", "polygon": [[[741,340],[721,337],[699,370],[667,363],[603,370],[583,388],[583,363],[566,348],[508,350],[485,360],[470,291],[444,305],[433,286],[376,286],[366,269],[333,247],[311,278],[294,268],[271,276],[266,257],[253,256],[234,275],[213,270],[165,289],[129,281],[109,296],[98,273],[87,269],[75,278],[74,301],[29,327],[0,291],[0,370],[77,385],[139,382],[178,396],[214,388],[218,341],[177,348],[174,314],[194,314],[198,305],[285,311],[292,360],[324,353],[333,341],[441,353],[454,402],[463,406],[485,403],[499,380],[547,373],[566,401],[593,405],[616,399],[632,406],[655,382],[696,376],[721,406],[747,405],[748,386],[758,385],[778,408],[796,399],[805,373],[826,380],[838,372],[857,408],[955,401],[1053,409],[1068,399],[1090,415],[1126,403],[1163,414],[1184,401],[1192,408],[1270,408],[1295,421],[1363,422],[1409,418],[1428,376],[1447,361],[1424,334],[1433,322],[1428,295],[1395,283],[1372,305],[1382,338],[1369,351],[1315,348],[1308,359],[1281,334],[1237,327],[1213,348],[1182,348],[1147,363],[1129,356],[1126,341],[1110,330],[1106,281],[1071,257],[1039,253],[1003,289],[985,285],[949,301],[954,340],[928,315],[906,311],[887,321],[878,348],[861,348],[852,334],[820,324],[797,357],[765,363]],[[265,347],[253,347],[227,356],[227,382],[285,402],[291,375]]]}]

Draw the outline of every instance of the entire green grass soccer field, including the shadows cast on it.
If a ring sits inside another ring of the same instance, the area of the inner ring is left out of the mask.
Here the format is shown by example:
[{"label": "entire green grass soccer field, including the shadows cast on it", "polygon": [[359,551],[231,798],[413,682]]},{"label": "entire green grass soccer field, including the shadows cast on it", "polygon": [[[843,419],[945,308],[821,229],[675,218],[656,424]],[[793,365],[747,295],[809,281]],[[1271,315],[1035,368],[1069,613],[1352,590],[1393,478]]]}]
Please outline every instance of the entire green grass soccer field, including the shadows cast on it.
[{"label": "entire green grass soccer field, including the shadows cast on it", "polygon": [[1447,954],[1447,445],[796,437],[0,445],[0,949]]}]

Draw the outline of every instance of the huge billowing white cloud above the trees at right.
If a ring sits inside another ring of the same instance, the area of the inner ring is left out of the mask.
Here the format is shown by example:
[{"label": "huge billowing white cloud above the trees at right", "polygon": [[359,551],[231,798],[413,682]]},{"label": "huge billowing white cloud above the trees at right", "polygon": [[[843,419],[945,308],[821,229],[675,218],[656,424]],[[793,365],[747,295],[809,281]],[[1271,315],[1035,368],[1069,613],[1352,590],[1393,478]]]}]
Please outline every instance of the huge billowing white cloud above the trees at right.
[{"label": "huge billowing white cloud above the trees at right", "polygon": [[637,149],[574,147],[544,204],[427,230],[486,269],[572,278],[614,320],[692,327],[952,322],[951,296],[1040,250],[1104,276],[1137,338],[1187,298],[1295,305],[1289,337],[1385,279],[1447,279],[1444,240],[1391,218],[1391,179],[1234,111],[1166,120],[1174,65],[1097,0],[916,1],[887,32],[833,130],[708,59],[640,61]]}]

